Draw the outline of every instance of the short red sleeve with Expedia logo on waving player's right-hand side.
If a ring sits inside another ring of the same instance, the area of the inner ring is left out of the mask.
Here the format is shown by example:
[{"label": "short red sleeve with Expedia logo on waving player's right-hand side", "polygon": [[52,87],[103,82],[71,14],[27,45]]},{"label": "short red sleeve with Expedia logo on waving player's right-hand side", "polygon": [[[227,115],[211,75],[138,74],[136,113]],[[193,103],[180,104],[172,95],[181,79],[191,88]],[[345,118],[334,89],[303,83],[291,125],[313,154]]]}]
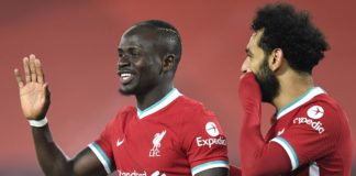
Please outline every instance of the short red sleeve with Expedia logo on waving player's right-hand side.
[{"label": "short red sleeve with Expedia logo on waving player's right-hand side", "polygon": [[192,110],[191,118],[182,121],[182,150],[186,152],[192,175],[200,172],[229,168],[227,141],[216,117],[204,110]]}]

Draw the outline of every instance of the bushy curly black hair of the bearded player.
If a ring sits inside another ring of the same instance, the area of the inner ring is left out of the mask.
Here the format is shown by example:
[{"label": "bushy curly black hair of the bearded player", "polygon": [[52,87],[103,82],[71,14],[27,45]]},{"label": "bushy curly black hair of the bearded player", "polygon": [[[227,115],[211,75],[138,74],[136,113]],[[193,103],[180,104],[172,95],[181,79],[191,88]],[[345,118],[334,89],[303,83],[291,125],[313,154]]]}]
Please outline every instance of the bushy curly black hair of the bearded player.
[{"label": "bushy curly black hair of the bearded player", "polygon": [[268,55],[275,48],[281,48],[290,67],[302,73],[312,74],[313,67],[330,48],[309,13],[298,12],[288,3],[267,4],[259,9],[252,30],[264,31],[258,45]]}]

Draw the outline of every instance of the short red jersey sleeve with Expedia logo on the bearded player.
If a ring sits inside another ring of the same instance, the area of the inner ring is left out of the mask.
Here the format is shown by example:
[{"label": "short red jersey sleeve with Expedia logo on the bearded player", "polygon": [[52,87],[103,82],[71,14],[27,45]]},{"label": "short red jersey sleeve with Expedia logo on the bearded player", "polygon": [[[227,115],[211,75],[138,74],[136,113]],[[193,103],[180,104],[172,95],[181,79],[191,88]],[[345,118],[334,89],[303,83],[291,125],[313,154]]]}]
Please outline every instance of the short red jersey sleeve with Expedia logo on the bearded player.
[{"label": "short red jersey sleeve with Expedia logo on the bearded player", "polygon": [[297,113],[293,124],[271,142],[285,148],[292,169],[312,164],[334,151],[341,131],[338,114],[327,102],[310,103]]}]

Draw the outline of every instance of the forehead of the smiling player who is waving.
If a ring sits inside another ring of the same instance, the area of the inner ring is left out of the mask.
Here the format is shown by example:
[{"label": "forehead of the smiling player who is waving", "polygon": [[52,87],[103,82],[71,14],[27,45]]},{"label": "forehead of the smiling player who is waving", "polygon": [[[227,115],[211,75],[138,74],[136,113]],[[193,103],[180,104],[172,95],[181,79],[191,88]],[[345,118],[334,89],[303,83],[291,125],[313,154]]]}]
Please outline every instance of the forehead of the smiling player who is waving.
[{"label": "forehead of the smiling player who is waving", "polygon": [[119,48],[127,47],[152,47],[157,41],[157,35],[153,28],[132,26],[121,37]]}]

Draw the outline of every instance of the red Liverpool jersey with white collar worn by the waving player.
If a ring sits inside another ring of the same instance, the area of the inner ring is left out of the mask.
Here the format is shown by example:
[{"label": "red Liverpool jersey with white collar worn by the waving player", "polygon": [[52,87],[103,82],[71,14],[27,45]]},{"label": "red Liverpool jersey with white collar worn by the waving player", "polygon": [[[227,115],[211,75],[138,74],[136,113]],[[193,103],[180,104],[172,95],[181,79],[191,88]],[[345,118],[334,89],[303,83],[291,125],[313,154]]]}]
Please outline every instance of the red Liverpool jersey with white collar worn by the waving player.
[{"label": "red Liverpool jersey with white collar worn by the waving player", "polygon": [[173,89],[145,110],[121,110],[89,147],[108,174],[169,176],[229,168],[226,145],[216,117]]}]

